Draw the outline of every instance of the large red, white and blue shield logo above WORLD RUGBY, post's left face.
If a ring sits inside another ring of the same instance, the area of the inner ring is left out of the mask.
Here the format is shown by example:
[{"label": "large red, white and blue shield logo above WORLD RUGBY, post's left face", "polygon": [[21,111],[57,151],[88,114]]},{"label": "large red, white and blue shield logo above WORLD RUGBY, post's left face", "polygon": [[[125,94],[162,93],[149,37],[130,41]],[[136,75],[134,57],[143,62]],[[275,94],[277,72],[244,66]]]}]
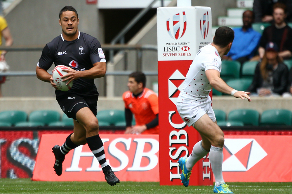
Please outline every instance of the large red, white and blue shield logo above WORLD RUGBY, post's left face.
[{"label": "large red, white and blue shield logo above WORLD RUGBY, post's left face", "polygon": [[185,34],[187,28],[187,17],[185,12],[173,15],[166,21],[166,28],[171,38],[178,40]]}]

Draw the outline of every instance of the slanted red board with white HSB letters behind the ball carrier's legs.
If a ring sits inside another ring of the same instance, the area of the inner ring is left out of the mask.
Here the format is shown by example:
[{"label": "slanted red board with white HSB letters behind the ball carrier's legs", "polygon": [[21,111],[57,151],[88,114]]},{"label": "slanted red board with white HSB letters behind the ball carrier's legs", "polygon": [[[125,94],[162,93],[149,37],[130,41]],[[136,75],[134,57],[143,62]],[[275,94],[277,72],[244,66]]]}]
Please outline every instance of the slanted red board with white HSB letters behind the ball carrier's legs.
[{"label": "slanted red board with white HSB letters behind the ball carrier's legs", "polygon": [[[44,134],[32,180],[34,181],[105,181],[98,160],[87,145],[66,155],[63,173],[53,169],[52,147],[61,145],[69,134]],[[100,135],[107,163],[120,181],[159,181],[158,135]]]}]

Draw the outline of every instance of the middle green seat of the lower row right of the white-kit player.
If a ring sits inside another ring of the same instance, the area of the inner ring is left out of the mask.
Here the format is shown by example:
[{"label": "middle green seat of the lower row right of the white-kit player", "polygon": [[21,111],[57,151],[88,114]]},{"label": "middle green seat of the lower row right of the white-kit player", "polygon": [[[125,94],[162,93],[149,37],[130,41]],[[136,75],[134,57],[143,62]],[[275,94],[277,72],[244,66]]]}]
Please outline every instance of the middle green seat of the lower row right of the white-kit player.
[{"label": "middle green seat of the lower row right of the white-kit player", "polygon": [[238,109],[230,111],[227,121],[239,121],[244,125],[258,126],[260,113],[252,109]]}]

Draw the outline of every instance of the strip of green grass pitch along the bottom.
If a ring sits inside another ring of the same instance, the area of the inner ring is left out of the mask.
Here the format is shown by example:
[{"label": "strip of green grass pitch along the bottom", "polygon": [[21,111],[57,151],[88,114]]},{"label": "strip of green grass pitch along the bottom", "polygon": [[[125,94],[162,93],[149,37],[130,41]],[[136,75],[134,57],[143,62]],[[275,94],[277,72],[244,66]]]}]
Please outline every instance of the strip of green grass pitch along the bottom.
[{"label": "strip of green grass pitch along the bottom", "polygon": [[[229,188],[237,194],[291,194],[291,185],[292,183],[229,183]],[[213,193],[213,187],[159,186],[159,183],[156,182],[121,182],[115,186],[109,186],[106,182],[41,182],[30,179],[0,179],[0,193],[193,194]]]}]

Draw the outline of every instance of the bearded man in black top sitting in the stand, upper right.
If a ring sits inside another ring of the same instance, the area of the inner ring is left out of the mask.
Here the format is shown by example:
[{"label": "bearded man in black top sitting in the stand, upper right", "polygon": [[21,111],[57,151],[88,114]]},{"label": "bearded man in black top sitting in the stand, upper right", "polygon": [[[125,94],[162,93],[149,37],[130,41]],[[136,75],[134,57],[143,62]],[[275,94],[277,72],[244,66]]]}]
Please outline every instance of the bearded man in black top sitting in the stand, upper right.
[{"label": "bearded man in black top sitting in the stand, upper right", "polygon": [[275,24],[264,30],[258,49],[259,56],[263,58],[267,43],[274,42],[279,47],[279,56],[288,59],[292,56],[292,29],[284,21],[286,6],[283,3],[275,3],[273,9]]}]

